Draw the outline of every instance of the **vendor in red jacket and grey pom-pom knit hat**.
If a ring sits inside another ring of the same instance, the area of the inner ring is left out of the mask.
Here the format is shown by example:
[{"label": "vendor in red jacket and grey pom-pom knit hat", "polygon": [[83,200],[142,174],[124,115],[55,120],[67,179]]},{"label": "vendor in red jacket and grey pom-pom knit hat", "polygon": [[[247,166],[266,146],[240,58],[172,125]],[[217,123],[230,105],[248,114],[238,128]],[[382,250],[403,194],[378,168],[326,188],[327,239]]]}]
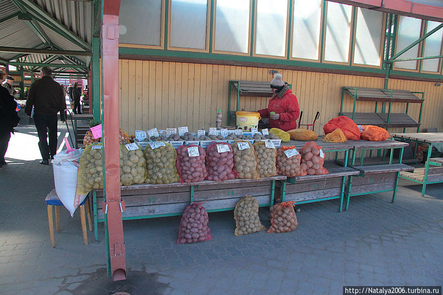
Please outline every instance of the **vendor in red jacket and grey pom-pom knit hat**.
[{"label": "vendor in red jacket and grey pom-pom knit hat", "polygon": [[289,86],[283,82],[281,74],[275,74],[271,81],[273,97],[268,108],[259,110],[262,118],[269,118],[271,128],[289,131],[297,128],[300,107],[297,97],[292,94]]}]

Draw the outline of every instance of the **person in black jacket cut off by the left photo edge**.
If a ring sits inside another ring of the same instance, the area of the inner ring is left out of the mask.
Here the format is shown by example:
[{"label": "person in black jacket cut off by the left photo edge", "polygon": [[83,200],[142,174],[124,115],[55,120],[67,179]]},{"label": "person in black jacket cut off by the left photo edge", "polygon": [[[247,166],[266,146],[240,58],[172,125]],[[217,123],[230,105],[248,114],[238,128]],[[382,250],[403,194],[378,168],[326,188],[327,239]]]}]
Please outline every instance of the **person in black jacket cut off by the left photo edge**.
[{"label": "person in black jacket cut off by the left photo edge", "polygon": [[[3,75],[0,73],[0,80]],[[8,90],[0,87],[0,167],[7,164],[4,161],[4,155],[8,149],[11,133],[14,133],[14,127],[18,125],[20,117],[15,111],[17,104]]]}]

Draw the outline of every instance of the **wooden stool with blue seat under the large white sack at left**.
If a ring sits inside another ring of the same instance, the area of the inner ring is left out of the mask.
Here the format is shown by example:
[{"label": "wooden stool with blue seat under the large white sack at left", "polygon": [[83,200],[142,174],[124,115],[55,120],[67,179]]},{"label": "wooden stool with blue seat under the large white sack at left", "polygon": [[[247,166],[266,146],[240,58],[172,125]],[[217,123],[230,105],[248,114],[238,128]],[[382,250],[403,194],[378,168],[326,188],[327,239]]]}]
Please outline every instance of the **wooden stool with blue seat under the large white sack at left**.
[{"label": "wooden stool with blue seat under the large white sack at left", "polygon": [[[45,201],[48,204],[48,221],[49,221],[49,234],[51,236],[51,246],[54,248],[54,222],[52,218],[52,207],[55,207],[55,228],[57,232],[60,232],[60,206],[63,206],[62,201],[57,196],[57,193],[52,190],[48,196],[45,197]],[[88,197],[85,197],[83,202],[79,205],[81,229],[83,231],[83,241],[85,245],[88,245],[88,234],[86,231],[86,217],[85,217],[85,204],[86,211],[88,212],[89,231],[92,231],[91,213],[89,209]]]}]

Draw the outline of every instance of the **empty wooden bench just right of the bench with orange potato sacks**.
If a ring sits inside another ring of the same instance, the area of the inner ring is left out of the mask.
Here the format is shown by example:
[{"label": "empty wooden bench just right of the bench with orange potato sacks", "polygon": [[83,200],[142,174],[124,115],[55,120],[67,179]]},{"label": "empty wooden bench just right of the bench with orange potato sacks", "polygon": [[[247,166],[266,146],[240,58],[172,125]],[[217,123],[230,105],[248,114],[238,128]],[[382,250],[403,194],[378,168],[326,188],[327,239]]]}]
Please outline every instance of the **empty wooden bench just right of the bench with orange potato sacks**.
[{"label": "empty wooden bench just right of the bench with orange potato sacks", "polygon": [[354,196],[375,194],[393,191],[392,203],[397,193],[398,178],[401,171],[413,170],[414,167],[406,164],[381,164],[371,166],[356,166],[359,171],[356,176],[350,175],[346,188],[346,206]]}]

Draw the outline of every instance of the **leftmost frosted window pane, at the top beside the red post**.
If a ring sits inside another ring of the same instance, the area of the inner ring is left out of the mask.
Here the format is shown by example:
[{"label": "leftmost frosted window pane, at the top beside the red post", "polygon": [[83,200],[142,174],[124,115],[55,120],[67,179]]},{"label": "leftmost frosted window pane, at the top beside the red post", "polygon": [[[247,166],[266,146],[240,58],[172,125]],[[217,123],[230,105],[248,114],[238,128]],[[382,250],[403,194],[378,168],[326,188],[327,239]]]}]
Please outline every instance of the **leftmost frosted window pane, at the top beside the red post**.
[{"label": "leftmost frosted window pane, at the top beside the red post", "polygon": [[162,1],[125,0],[120,7],[119,42],[160,46],[161,22]]}]

